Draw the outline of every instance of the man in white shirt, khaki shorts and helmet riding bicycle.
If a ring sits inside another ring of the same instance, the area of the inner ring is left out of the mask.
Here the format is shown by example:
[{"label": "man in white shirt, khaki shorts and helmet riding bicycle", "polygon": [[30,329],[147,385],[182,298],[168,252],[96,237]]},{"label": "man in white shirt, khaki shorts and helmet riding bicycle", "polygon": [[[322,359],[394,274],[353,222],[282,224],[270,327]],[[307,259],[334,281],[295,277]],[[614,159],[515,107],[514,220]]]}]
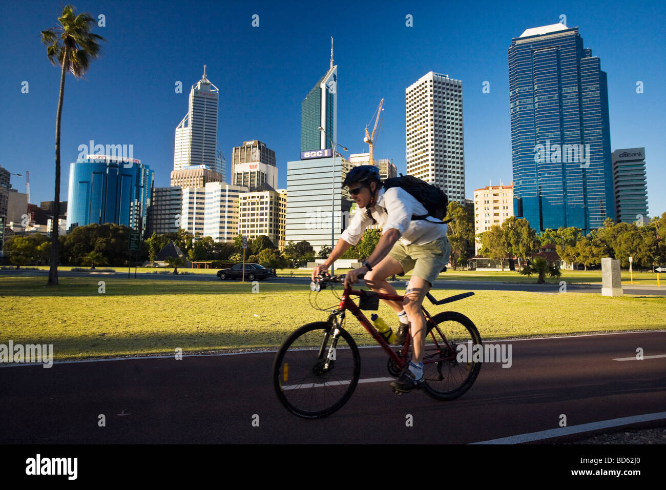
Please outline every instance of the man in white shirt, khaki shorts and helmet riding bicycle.
[{"label": "man in white shirt, khaki shorts and helmet riding bicycle", "polygon": [[406,393],[423,383],[426,319],[421,305],[451,255],[447,226],[433,217],[413,220],[413,215],[428,214],[424,205],[400,187],[385,189],[374,165],[354,167],[342,183],[342,187],[346,186],[358,209],[326,262],[313,269],[312,280],[327,271],[349,247],[356,245],[368,226],[375,222],[380,225],[382,237],[379,243],[362,267],[347,273],[344,285],[352,286],[359,275],[365,274],[364,281],[370,289],[395,295],[396,290],[386,278],[404,275],[414,269],[403,303],[385,300],[400,321],[396,345],[404,343],[407,329],[412,332],[412,361],[391,383],[392,388]]}]

